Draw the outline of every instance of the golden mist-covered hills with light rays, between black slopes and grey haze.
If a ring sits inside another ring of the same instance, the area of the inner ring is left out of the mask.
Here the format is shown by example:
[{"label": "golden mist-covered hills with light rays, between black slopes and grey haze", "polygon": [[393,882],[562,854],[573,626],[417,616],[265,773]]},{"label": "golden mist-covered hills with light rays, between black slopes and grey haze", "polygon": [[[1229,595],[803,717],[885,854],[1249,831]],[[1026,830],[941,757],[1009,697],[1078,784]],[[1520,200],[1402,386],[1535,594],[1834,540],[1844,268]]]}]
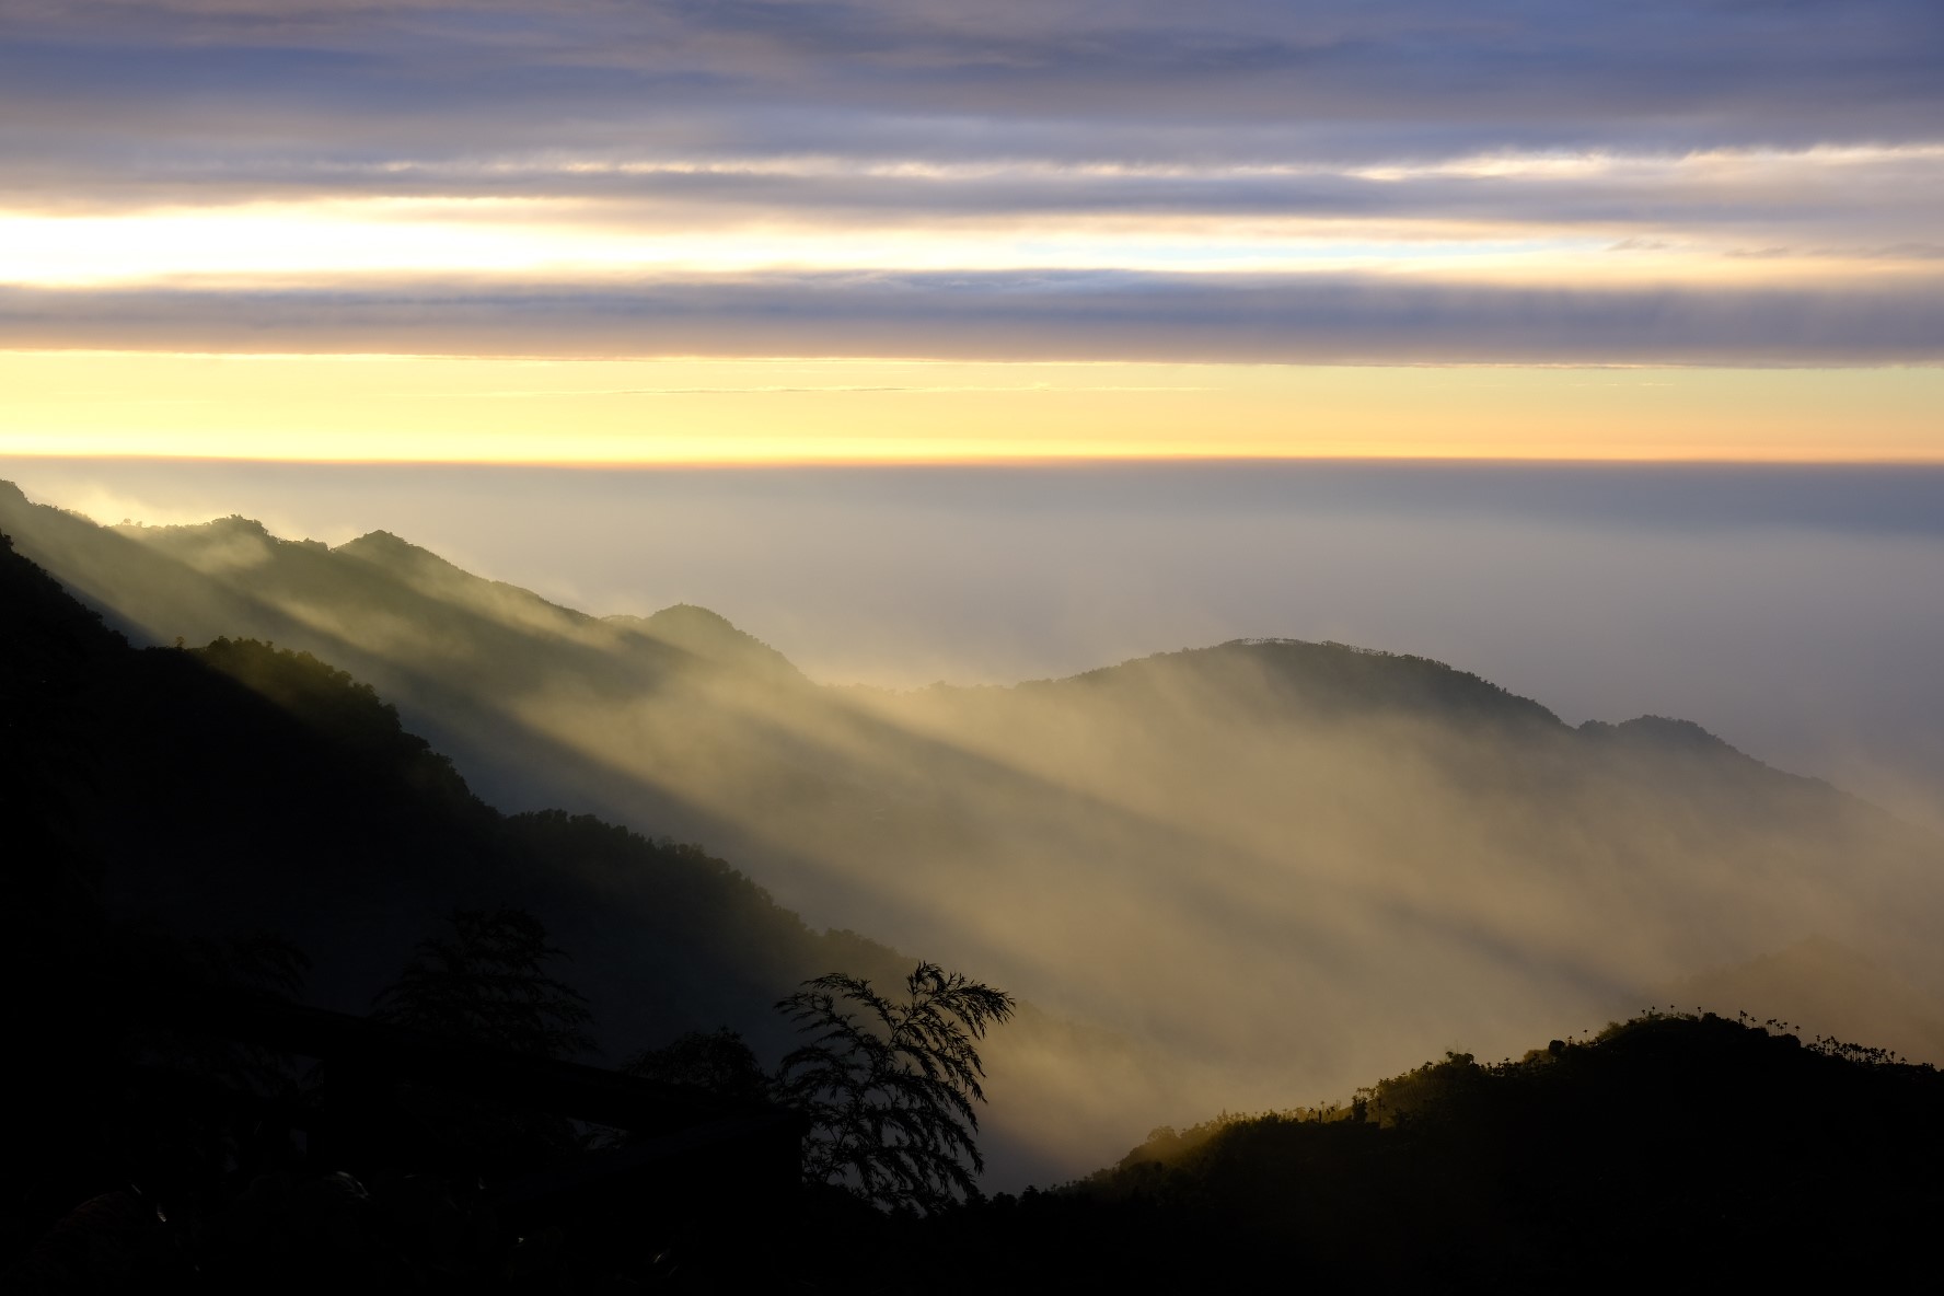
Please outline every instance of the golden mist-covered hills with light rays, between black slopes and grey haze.
[{"label": "golden mist-covered hills with light rays, between black slopes and grey haze", "polygon": [[836,688],[702,608],[587,616],[385,532],[107,529],[10,488],[0,529],[138,639],[264,639],[371,682],[500,808],[706,841],[813,927],[1128,1041],[995,1057],[995,1123],[1075,1172],[1129,1129],[1510,1053],[1668,987],[1857,1034],[1868,977],[1775,989],[1802,942],[1944,991],[1938,837],[1693,725],[1569,727],[1419,657],[1234,641]]}]

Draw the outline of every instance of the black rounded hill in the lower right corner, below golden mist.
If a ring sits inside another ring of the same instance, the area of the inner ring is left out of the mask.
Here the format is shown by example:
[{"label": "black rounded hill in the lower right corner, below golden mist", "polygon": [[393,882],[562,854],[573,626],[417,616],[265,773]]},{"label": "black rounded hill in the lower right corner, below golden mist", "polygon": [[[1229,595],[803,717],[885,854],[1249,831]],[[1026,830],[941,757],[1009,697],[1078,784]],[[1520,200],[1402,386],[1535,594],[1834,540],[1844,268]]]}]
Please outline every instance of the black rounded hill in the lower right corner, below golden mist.
[{"label": "black rounded hill in the lower right corner, below golden mist", "polygon": [[[1452,1055],[1357,1109],[1155,1131],[894,1244],[941,1290],[1641,1290],[1930,1269],[1944,1076],[1724,1018]],[[888,1249],[888,1247],[886,1247]],[[896,1263],[896,1261],[892,1261]]]}]

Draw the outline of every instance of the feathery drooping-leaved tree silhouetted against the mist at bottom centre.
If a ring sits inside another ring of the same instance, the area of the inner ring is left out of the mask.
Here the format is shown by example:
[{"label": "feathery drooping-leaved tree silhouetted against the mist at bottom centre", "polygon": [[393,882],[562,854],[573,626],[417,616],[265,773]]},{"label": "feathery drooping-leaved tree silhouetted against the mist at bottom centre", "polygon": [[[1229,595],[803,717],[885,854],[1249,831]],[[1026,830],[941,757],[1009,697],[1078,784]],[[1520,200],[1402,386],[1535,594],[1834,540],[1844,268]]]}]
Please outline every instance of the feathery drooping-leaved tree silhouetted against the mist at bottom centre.
[{"label": "feathery drooping-leaved tree silhouetted against the mist at bottom centre", "polygon": [[844,973],[803,985],[776,1006],[813,1038],[783,1057],[776,1094],[813,1121],[805,1177],[921,1214],[978,1197],[974,1041],[1013,1014],[1013,997],[937,964],[906,977],[902,1003]]}]

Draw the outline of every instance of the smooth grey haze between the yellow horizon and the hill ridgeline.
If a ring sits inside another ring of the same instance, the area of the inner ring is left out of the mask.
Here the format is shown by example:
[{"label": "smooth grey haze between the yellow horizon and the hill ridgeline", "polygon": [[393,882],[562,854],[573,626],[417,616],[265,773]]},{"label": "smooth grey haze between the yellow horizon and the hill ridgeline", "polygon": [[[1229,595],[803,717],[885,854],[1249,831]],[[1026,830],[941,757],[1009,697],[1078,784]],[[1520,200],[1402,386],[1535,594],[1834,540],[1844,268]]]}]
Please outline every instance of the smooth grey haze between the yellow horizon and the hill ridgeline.
[{"label": "smooth grey haze between the yellow horizon and the hill ridgeline", "polygon": [[708,606],[820,682],[1013,682],[1244,635],[1680,715],[1944,826],[1944,470],[0,460],[101,523],[389,529],[597,614]]}]

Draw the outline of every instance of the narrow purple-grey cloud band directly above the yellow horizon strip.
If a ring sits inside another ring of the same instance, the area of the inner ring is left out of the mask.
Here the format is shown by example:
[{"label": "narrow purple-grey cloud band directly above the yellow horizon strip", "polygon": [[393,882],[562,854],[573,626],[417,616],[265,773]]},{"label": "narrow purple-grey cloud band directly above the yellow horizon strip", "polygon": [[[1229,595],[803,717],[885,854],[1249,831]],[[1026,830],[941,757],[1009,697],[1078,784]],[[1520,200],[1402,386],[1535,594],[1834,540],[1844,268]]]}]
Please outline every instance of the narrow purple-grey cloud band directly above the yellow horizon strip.
[{"label": "narrow purple-grey cloud band directly above the yellow horizon strip", "polygon": [[770,274],[0,290],[0,346],[1248,363],[1944,361],[1944,280],[1509,288],[1382,276]]}]

